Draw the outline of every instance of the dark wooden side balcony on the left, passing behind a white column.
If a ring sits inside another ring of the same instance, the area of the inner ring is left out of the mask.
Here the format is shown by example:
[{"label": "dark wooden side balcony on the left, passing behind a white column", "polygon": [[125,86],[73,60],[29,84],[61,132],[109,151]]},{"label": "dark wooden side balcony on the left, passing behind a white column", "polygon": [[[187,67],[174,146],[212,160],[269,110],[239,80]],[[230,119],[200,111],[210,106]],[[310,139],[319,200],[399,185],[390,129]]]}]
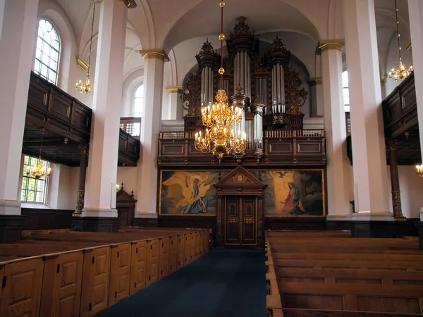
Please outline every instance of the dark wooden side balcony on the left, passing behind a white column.
[{"label": "dark wooden side balcony on the left, passing behind a white column", "polygon": [[[23,135],[23,154],[66,166],[80,166],[80,146],[90,144],[92,110],[47,80],[31,73]],[[121,166],[136,166],[140,141],[120,131]]]}]

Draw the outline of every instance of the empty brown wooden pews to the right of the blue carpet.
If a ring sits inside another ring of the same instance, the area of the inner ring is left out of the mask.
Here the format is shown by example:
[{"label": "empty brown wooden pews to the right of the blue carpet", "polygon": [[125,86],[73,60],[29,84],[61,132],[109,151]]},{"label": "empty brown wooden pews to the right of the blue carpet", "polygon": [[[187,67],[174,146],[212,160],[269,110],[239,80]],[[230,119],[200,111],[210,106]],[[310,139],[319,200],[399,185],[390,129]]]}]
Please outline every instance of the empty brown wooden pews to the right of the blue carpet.
[{"label": "empty brown wooden pews to the right of the blue carpet", "polygon": [[267,232],[283,316],[423,314],[423,253],[412,240]]}]

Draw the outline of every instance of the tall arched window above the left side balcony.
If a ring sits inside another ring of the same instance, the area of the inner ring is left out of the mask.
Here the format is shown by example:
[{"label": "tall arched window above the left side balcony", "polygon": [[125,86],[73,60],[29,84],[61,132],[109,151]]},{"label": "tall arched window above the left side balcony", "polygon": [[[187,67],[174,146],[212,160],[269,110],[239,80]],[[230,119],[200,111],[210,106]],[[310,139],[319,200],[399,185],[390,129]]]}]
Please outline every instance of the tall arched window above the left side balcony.
[{"label": "tall arched window above the left side balcony", "polygon": [[54,85],[57,85],[59,55],[59,34],[49,21],[39,20],[34,71]]}]

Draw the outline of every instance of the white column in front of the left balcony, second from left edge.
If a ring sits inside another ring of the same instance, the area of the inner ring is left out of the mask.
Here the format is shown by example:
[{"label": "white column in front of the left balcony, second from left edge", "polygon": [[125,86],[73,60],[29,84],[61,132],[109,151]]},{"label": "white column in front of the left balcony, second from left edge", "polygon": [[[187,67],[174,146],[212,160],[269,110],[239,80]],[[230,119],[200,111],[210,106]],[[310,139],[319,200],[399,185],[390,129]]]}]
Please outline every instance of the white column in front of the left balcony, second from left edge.
[{"label": "white column in front of the left balcony, second from left edge", "polygon": [[93,121],[85,209],[82,217],[117,217],[119,121],[122,103],[126,16],[121,1],[104,1],[99,20]]}]

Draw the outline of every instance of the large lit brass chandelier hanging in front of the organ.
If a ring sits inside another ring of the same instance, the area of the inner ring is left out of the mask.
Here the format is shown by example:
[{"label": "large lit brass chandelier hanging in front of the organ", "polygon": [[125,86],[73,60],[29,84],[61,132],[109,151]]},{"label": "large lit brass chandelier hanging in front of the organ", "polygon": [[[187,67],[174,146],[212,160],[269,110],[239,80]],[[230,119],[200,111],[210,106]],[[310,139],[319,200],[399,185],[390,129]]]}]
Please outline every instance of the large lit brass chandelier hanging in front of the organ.
[{"label": "large lit brass chandelier hanging in front of the organ", "polygon": [[224,154],[239,154],[247,147],[247,136],[245,132],[235,135],[233,127],[243,120],[242,109],[238,106],[229,106],[228,97],[223,89],[223,8],[225,2],[220,1],[221,7],[221,68],[220,89],[216,93],[216,102],[213,105],[203,105],[201,108],[202,124],[206,126],[206,131],[195,133],[195,149],[197,151],[209,152],[219,159]]}]

